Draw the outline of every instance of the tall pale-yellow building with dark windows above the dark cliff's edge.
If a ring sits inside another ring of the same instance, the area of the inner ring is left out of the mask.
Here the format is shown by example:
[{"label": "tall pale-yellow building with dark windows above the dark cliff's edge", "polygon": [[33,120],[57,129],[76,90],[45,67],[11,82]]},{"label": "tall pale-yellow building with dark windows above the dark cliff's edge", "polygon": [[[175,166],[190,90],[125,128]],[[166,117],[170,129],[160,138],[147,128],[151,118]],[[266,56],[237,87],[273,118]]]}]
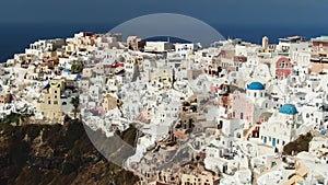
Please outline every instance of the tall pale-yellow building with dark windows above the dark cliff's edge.
[{"label": "tall pale-yellow building with dark windows above the dark cliff's edge", "polygon": [[38,103],[38,111],[48,119],[62,120],[61,92],[65,90],[65,79],[51,80],[44,93],[44,101]]}]

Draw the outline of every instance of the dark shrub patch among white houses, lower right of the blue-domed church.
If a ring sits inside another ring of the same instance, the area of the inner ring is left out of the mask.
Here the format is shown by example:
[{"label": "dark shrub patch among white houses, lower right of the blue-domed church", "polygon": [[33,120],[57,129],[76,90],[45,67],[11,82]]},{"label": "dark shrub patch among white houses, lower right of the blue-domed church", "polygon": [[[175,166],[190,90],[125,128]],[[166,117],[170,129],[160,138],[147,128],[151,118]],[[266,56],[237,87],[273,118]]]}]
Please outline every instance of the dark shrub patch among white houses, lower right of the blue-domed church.
[{"label": "dark shrub patch among white houses, lower right of the blue-domed church", "polygon": [[295,141],[288,143],[283,148],[283,153],[285,154],[296,154],[302,151],[308,151],[308,143],[313,139],[311,132],[306,135],[301,135]]}]

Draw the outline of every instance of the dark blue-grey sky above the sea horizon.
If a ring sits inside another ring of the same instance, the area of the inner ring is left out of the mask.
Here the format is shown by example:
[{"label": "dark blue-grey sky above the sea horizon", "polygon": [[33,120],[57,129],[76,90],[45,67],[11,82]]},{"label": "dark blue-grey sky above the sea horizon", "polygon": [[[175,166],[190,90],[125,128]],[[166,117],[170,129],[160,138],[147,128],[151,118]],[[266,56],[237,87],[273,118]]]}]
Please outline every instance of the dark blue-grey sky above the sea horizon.
[{"label": "dark blue-grey sky above the sea horizon", "polygon": [[0,0],[0,23],[119,24],[180,13],[209,24],[328,24],[328,0]]}]

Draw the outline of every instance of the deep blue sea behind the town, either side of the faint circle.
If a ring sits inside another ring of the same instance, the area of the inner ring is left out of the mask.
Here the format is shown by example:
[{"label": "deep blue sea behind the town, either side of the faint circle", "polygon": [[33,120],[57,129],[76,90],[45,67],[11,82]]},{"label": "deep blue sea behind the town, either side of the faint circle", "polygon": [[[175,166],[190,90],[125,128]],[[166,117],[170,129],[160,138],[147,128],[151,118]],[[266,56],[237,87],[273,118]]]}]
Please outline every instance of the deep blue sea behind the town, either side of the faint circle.
[{"label": "deep blue sea behind the town, either side of the faint circle", "polygon": [[[28,45],[44,38],[72,37],[78,32],[106,33],[116,24],[1,24],[0,28],[0,61],[12,58],[14,54],[23,53]],[[225,38],[242,38],[246,42],[260,44],[262,36],[268,36],[270,43],[278,38],[301,35],[306,38],[328,35],[328,25],[211,25]]]}]

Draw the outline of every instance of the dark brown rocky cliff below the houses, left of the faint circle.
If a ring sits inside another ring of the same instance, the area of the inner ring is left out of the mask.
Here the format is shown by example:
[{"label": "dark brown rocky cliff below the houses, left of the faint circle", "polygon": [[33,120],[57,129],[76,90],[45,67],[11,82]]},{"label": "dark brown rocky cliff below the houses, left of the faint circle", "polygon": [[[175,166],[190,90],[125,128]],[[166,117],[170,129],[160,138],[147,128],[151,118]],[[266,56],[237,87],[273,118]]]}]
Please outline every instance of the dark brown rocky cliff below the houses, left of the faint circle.
[{"label": "dark brown rocky cliff below the houses, left of the faint circle", "polygon": [[109,163],[93,147],[83,125],[0,124],[0,184],[117,184],[138,177]]}]

